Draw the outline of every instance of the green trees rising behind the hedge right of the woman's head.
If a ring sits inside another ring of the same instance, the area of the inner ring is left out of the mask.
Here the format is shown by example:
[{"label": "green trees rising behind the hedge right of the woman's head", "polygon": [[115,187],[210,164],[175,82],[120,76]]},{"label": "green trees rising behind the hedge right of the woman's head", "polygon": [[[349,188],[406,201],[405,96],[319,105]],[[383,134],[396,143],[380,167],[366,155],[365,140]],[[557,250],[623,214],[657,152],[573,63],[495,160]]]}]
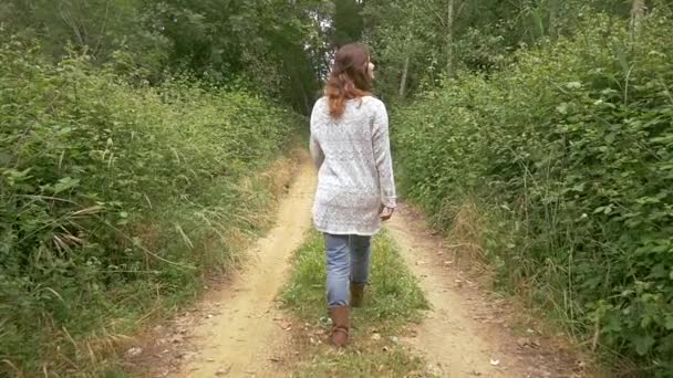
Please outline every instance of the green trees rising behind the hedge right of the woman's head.
[{"label": "green trees rising behind the hedge right of the woman's head", "polygon": [[[666,0],[651,6],[669,7]],[[596,9],[624,20],[631,1],[369,0],[364,38],[381,70],[379,93],[398,101],[441,87],[460,70],[506,69],[514,51],[571,35],[582,14]]]}]

